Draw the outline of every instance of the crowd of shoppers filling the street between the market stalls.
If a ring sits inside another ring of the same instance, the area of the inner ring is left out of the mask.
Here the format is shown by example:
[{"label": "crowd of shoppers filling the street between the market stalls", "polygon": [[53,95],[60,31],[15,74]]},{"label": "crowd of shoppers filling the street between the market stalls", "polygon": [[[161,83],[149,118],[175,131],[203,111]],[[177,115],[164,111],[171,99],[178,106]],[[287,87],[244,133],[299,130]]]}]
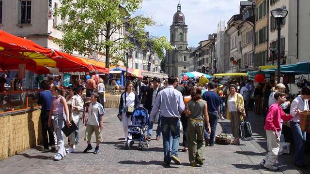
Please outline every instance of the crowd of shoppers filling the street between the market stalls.
[{"label": "crowd of shoppers filling the street between the market stalls", "polygon": [[[115,80],[111,82],[118,89],[119,86],[115,83]],[[66,153],[75,151],[78,131],[69,135],[69,148],[65,149],[61,129],[65,125],[78,126],[81,112],[85,109],[83,106],[87,102],[85,97],[90,97],[88,115],[85,116],[84,138],[88,146],[83,152],[87,153],[93,149],[90,141],[94,132],[96,147],[93,153],[99,153],[105,114],[103,79],[99,78],[96,81],[93,75],[86,81],[85,86],[69,86],[66,95],[59,85],[59,79],[55,79],[53,83],[41,83],[43,91],[40,92],[38,102],[42,105],[44,148],[48,150],[48,145],[51,145],[52,150],[55,150],[56,136],[59,149],[54,156],[55,160],[62,160]],[[86,89],[85,95],[82,93],[83,88]],[[281,130],[284,120],[289,121],[294,136],[294,164],[296,167],[307,168],[304,163],[306,132],[301,131],[299,115],[302,111],[309,110],[310,87],[305,85],[301,89],[301,95],[292,102],[287,102],[287,97],[292,97],[289,95],[288,86],[272,81],[260,83],[255,87],[252,80],[237,82],[213,79],[202,84],[195,79],[185,81],[173,76],[168,79],[154,77],[146,78],[143,82],[134,80],[125,84],[120,98],[118,118],[123,125],[125,141],[130,141],[132,137],[128,134],[128,126],[131,125],[133,111],[141,106],[147,110],[145,139],[152,141],[153,128],[157,124],[153,140],[157,141],[162,137],[164,166],[170,166],[171,160],[177,165],[181,164],[178,146],[183,130],[182,151],[188,151],[190,166],[196,167],[203,165],[205,146],[216,144],[218,120],[230,120],[233,135],[231,145],[240,145],[240,124],[248,116],[248,110],[253,109],[256,115],[265,117],[263,129],[266,132],[268,154],[260,164],[270,170],[278,169],[275,163],[281,154],[279,142],[283,137]],[[289,113],[286,114],[283,110],[287,109]]]}]

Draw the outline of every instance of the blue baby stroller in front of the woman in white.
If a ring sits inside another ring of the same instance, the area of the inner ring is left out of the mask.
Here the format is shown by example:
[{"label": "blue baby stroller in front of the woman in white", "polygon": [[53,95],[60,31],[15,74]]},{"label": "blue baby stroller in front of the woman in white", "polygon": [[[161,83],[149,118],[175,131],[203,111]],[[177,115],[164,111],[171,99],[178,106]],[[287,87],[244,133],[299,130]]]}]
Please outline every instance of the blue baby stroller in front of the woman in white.
[{"label": "blue baby stroller in front of the woman in white", "polygon": [[125,149],[131,149],[134,142],[139,142],[138,149],[143,150],[144,145],[149,146],[145,139],[148,116],[147,110],[143,107],[136,108],[131,116],[131,125],[128,126],[128,137],[125,143]]}]

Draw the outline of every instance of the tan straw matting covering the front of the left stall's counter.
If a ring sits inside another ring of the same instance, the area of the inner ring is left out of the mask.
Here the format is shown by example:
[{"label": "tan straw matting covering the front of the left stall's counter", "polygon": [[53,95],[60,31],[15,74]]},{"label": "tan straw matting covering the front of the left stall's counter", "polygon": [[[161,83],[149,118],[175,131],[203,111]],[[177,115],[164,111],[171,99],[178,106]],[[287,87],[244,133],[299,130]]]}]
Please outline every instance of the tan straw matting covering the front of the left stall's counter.
[{"label": "tan straw matting covering the front of the left stall's counter", "polygon": [[42,144],[40,109],[0,117],[0,160]]}]

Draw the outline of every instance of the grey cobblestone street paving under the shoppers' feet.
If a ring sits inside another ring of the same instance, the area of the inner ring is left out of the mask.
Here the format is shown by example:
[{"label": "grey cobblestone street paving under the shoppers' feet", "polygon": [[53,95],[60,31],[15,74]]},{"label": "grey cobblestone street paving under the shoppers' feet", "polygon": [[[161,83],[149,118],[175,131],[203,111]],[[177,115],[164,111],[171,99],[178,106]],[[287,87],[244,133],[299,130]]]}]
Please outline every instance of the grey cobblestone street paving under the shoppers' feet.
[{"label": "grey cobblestone street paving under the shoppers' feet", "polygon": [[[171,167],[162,166],[163,148],[162,141],[151,141],[150,147],[145,147],[144,151],[137,150],[137,144],[131,150],[124,150],[124,132],[122,124],[116,117],[117,109],[107,109],[104,120],[103,140],[100,144],[100,153],[83,154],[82,151],[87,146],[83,141],[85,126],[80,124],[80,142],[76,145],[76,152],[67,154],[63,160],[54,161],[52,152],[38,151],[40,147],[30,149],[14,157],[0,161],[1,174],[259,174],[271,173],[263,169],[259,164],[266,153],[266,140],[263,131],[256,131],[262,125],[261,116],[250,116],[253,136],[251,139],[241,141],[240,146],[235,145],[214,145],[205,148],[205,164],[202,167],[190,167],[188,154],[179,150],[179,157],[182,165],[175,165],[171,161]],[[230,123],[228,120],[219,121],[217,134],[222,130],[230,133]],[[153,137],[154,134],[153,132]],[[181,138],[182,139],[182,138]],[[95,147],[94,135],[92,139]],[[67,139],[65,138],[65,142]],[[181,140],[182,142],[182,140]],[[182,147],[179,146],[179,149]],[[93,152],[93,150],[92,150]],[[309,156],[308,156],[309,157]],[[280,160],[281,159],[281,160]],[[308,158],[309,159],[309,158]],[[294,168],[294,155],[279,156],[281,165],[277,173],[296,174]],[[279,166],[279,164],[276,164]],[[288,166],[287,166],[288,165]],[[290,166],[291,165],[291,166]],[[276,172],[272,172],[276,173]]]}]

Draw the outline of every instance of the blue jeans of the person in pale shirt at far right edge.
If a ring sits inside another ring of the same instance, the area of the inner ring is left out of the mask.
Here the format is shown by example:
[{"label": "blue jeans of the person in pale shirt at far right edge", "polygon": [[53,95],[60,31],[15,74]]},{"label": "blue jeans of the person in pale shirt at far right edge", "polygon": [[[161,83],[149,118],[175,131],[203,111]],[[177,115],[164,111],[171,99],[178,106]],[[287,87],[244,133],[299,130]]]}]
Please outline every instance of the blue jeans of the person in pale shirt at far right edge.
[{"label": "blue jeans of the person in pale shirt at far right edge", "polygon": [[303,165],[305,156],[306,132],[301,131],[299,122],[290,121],[295,144],[295,164]]}]

